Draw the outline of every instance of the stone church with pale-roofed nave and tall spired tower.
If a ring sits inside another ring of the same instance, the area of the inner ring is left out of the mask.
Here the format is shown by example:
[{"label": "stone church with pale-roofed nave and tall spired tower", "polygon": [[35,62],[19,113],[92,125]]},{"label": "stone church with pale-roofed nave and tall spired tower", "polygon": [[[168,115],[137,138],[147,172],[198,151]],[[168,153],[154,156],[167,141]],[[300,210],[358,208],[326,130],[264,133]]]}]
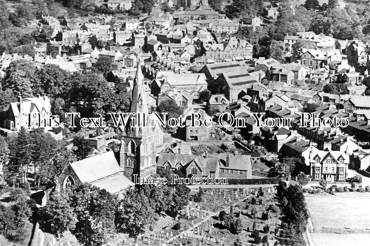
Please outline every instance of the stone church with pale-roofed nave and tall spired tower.
[{"label": "stone church with pale-roofed nave and tall spired tower", "polygon": [[[139,61],[131,92],[130,112],[149,115],[147,98]],[[58,177],[56,190],[87,182],[112,194],[120,194],[134,186],[132,175],[145,178],[156,173],[156,150],[163,144],[163,130],[160,126],[152,127],[149,119],[146,123],[147,127],[140,128],[127,124],[121,134],[119,160],[113,151],[109,151],[70,163]]]}]

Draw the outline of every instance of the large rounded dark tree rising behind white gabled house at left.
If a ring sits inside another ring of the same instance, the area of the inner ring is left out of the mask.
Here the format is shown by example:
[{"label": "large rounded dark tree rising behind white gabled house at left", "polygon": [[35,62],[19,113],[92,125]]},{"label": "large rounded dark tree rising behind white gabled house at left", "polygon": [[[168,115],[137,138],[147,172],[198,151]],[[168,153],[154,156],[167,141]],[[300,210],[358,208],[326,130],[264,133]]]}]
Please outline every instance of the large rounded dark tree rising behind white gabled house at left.
[{"label": "large rounded dark tree rising behind white gabled house at left", "polygon": [[5,70],[3,89],[11,89],[16,96],[22,97],[42,93],[37,68],[27,60],[14,60]]}]

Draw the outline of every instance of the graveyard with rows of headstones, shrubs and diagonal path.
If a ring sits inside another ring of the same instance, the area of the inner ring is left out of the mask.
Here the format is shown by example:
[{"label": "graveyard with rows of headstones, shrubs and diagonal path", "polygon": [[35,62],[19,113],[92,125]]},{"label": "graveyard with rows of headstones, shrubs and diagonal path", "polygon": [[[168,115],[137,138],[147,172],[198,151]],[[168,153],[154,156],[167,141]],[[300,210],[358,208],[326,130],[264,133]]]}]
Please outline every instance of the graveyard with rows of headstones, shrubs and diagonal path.
[{"label": "graveyard with rows of headstones, shrubs and diagonal path", "polygon": [[273,245],[280,216],[273,185],[196,189],[176,218],[139,236],[135,245],[234,245],[237,238],[239,245],[262,245],[262,242]]}]

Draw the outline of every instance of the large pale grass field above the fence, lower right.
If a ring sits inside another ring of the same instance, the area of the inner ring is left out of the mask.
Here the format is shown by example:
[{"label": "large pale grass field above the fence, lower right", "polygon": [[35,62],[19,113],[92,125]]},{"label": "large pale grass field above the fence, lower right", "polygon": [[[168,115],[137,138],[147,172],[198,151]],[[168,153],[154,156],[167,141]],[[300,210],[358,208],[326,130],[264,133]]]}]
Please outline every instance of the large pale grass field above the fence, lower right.
[{"label": "large pale grass field above the fence, lower right", "polygon": [[370,197],[306,197],[306,202],[316,229],[370,228]]}]

